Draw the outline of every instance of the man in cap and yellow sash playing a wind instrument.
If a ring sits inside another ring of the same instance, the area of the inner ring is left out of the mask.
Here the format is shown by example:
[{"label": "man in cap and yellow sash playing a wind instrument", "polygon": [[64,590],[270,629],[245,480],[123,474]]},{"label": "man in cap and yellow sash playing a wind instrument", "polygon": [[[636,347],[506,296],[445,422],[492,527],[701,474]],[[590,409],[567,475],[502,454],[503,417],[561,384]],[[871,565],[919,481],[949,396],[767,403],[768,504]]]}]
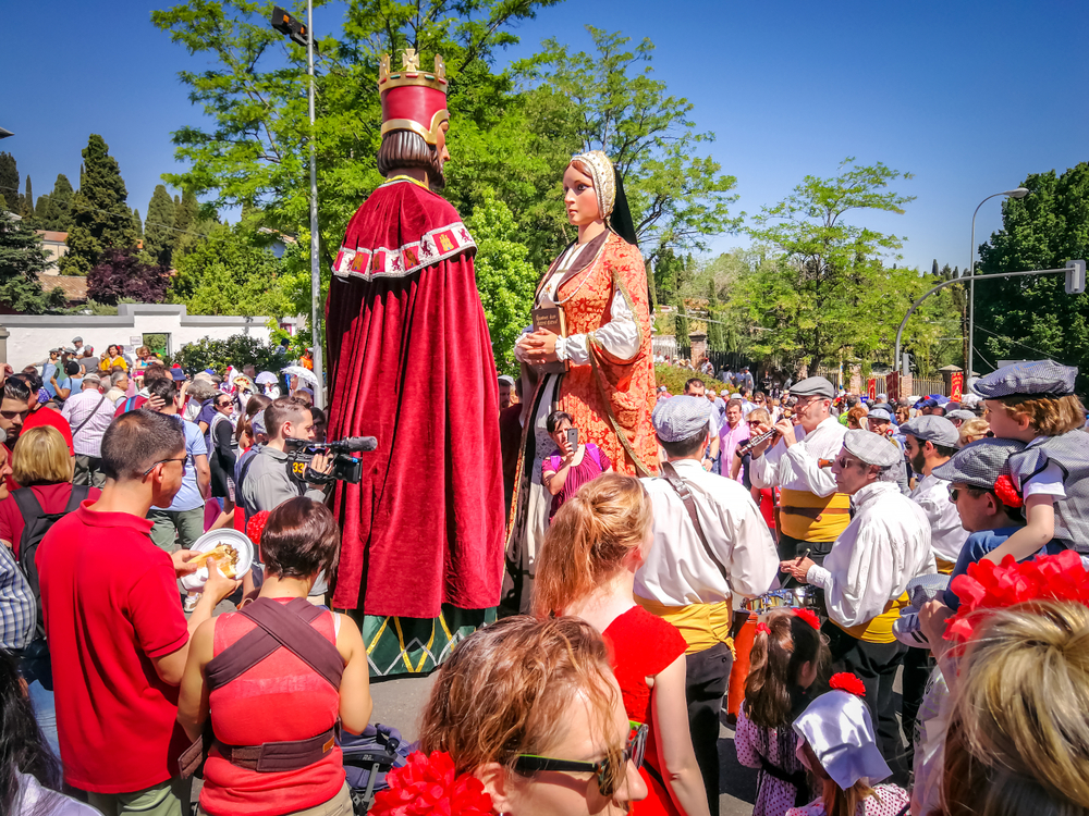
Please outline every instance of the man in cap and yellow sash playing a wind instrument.
[{"label": "man in cap and yellow sash playing a wind instrument", "polygon": [[[835,388],[823,376],[803,380],[791,395],[797,397],[798,425],[788,419],[750,425],[754,437],[772,429],[778,433],[752,449],[749,479],[757,487],[782,491],[776,521],[780,559],[808,551],[815,562],[822,564],[851,521],[849,497],[836,492],[832,471],[821,463],[840,453],[846,429],[831,416]],[[784,581],[784,586],[794,585],[793,579]]]}]

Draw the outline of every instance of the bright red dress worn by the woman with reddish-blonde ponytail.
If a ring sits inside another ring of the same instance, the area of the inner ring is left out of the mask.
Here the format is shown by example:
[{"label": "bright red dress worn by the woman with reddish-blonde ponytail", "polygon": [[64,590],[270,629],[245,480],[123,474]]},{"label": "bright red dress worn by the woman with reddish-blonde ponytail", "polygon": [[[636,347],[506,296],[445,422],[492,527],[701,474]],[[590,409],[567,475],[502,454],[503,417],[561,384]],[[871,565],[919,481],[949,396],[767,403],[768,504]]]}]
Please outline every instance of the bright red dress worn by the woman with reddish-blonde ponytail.
[{"label": "bright red dress worn by the woman with reddish-blonde ponytail", "polygon": [[[650,726],[647,755],[639,774],[647,783],[647,798],[635,802],[632,813],[639,816],[681,816],[662,779],[662,759],[654,738],[653,712],[647,678],[664,670],[685,653],[687,644],[672,623],[651,615],[641,606],[633,606],[617,617],[604,631],[612,652],[613,673],[624,695],[624,709],[635,722]],[[648,770],[647,766],[651,769]],[[656,778],[657,777],[657,778]]]}]

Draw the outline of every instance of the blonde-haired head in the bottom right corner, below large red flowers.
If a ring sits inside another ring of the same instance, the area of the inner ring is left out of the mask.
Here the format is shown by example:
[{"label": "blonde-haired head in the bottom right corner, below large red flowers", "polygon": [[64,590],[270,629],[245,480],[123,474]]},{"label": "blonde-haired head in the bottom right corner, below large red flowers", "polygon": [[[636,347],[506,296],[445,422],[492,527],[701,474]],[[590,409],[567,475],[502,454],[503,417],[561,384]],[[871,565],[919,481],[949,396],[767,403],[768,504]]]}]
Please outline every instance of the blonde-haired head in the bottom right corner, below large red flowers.
[{"label": "blonde-haired head in the bottom right corner, below large red flowers", "polygon": [[942,816],[1089,813],[1089,608],[993,613],[950,685]]}]

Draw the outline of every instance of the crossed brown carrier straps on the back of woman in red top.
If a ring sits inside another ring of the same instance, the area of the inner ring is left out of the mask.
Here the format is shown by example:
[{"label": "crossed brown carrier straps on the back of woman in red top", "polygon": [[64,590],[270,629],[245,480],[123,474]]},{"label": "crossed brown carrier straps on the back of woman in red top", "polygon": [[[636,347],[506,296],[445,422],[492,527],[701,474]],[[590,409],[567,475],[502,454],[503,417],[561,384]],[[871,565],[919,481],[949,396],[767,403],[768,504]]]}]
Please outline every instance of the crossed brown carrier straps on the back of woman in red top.
[{"label": "crossed brown carrier straps on the back of woman in red top", "polygon": [[337,646],[325,638],[315,638],[311,622],[325,610],[305,598],[292,598],[280,604],[270,598],[257,598],[242,608],[257,626],[208,662],[205,672],[210,690],[241,677],[280,647],[298,657],[340,689],[344,659]]}]

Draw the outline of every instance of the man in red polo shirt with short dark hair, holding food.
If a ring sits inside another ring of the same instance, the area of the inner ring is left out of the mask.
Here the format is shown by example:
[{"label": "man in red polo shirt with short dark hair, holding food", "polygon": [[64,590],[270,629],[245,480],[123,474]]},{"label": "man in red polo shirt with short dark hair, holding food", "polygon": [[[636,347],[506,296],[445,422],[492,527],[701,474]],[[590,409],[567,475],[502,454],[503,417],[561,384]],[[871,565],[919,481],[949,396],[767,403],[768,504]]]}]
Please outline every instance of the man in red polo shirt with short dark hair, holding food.
[{"label": "man in red polo shirt with short dark hair, holding food", "polygon": [[238,585],[212,568],[186,625],[175,579],[196,569],[192,553],[159,549],[145,518],[170,505],[184,468],[172,417],[120,417],[102,437],[102,495],[53,524],[37,554],[64,779],[107,814],[181,815],[171,778],[189,634]]}]

